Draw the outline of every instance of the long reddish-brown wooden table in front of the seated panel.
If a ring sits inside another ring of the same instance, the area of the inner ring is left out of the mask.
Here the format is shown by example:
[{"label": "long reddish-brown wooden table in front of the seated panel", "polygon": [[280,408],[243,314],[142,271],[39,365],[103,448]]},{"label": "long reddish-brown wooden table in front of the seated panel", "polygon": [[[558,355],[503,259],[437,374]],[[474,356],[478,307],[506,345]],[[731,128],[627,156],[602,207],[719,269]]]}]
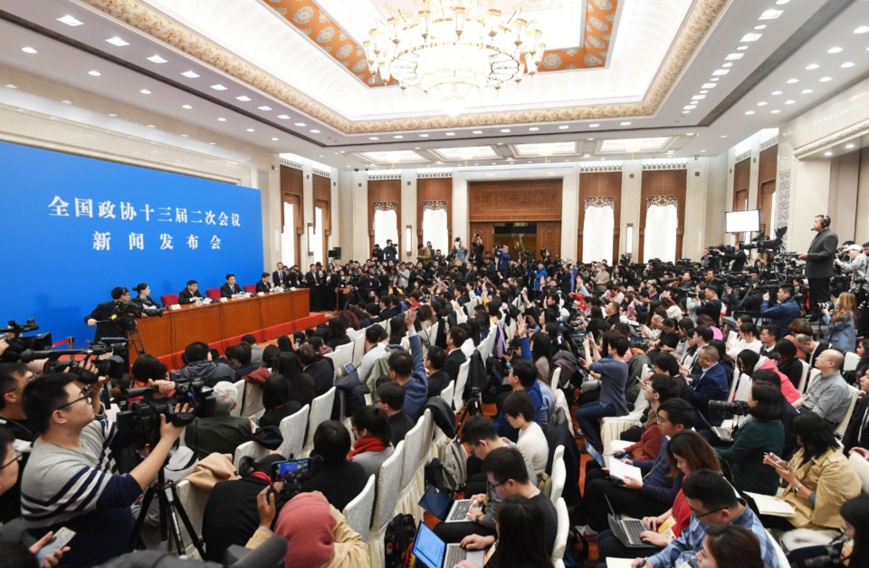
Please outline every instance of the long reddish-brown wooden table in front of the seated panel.
[{"label": "long reddish-brown wooden table in front of the seated panel", "polygon": [[[250,333],[257,341],[266,341],[321,323],[325,317],[310,313],[308,290],[300,289],[203,306],[186,304],[166,310],[161,318],[137,321],[145,351],[177,368],[183,364],[184,348],[194,341],[204,341],[222,353],[242,335]],[[131,353],[130,361],[134,360]]]}]

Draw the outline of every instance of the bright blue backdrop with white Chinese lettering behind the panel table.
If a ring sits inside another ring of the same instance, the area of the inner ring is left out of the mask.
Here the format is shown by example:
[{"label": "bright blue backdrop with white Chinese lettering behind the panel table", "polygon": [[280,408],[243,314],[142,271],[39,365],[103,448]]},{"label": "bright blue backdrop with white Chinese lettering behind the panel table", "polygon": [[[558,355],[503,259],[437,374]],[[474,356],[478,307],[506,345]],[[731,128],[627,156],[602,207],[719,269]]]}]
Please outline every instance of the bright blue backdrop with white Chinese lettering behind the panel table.
[{"label": "bright blue backdrop with white Chinese lettering behind the panel table", "polygon": [[259,280],[258,190],[6,143],[0,171],[3,327],[35,317],[84,347],[85,315],[115,286],[145,282],[159,302],[188,279],[203,295],[228,272]]}]

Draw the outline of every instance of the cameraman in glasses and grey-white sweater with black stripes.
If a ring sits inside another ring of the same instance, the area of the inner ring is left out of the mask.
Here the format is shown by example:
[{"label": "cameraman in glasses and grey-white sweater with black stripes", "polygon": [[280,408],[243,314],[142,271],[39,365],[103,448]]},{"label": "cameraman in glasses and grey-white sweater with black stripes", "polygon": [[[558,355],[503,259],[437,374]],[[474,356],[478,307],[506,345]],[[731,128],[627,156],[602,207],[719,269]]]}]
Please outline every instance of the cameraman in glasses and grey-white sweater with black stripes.
[{"label": "cameraman in glasses and grey-white sweater with black stripes", "polygon": [[21,509],[35,534],[64,526],[76,532],[64,566],[96,566],[127,552],[130,503],[156,477],[182,428],[161,415],[160,441],[150,455],[129,474],[115,475],[113,449],[125,444],[114,423],[94,419],[100,383],[88,387],[77,379],[45,375],[24,389],[24,409],[39,438],[22,480]]}]

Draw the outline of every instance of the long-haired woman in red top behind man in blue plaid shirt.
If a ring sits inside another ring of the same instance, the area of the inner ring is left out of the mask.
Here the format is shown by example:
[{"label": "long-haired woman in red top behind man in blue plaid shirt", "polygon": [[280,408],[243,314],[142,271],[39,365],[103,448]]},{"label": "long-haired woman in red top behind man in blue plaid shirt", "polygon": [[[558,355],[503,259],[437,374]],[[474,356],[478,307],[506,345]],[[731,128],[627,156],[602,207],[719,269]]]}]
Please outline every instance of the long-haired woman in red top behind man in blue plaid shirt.
[{"label": "long-haired woman in red top behind man in blue plaid shirt", "polygon": [[[721,465],[712,446],[703,436],[693,430],[683,430],[673,436],[667,445],[667,458],[670,460],[671,477],[688,477],[695,471],[709,469],[721,472]],[[599,562],[605,558],[630,558],[651,556],[661,551],[670,542],[670,536],[678,538],[691,521],[691,508],[680,489],[673,500],[673,506],[657,517],[644,517],[646,530],[640,538],[648,548],[628,548],[613,534],[606,530],[598,535],[597,546]]]}]

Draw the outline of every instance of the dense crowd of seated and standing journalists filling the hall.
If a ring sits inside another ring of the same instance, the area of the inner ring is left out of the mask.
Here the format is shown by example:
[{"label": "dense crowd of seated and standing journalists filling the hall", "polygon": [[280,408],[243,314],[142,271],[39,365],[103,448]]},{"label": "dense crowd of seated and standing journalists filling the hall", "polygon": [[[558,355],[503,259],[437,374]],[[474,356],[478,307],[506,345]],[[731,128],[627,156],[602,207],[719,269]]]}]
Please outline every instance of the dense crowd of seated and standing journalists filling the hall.
[{"label": "dense crowd of seated and standing journalists filling the hall", "polygon": [[[867,262],[859,246],[848,249],[848,290],[829,306],[819,301],[818,275],[835,262],[837,242],[828,218],[816,229],[807,290],[786,282],[755,292],[756,312],[740,312],[738,292],[707,257],[687,267],[574,263],[547,251],[514,258],[506,246],[485,250],[475,235],[470,249],[457,239],[446,256],[421,245],[415,263],[399,262],[387,243],[363,263],[314,265],[313,280],[297,267],[264,272],[266,290],[322,286],[311,290],[312,308],[334,310],[326,324],[275,344],[245,336],[218,353],[194,342],[180,369],[146,354],[111,382],[90,366],[34,374],[24,363],[0,364],[0,558],[34,565],[61,529],[75,536],[41,559],[45,566],[99,565],[131,542],[165,546],[147,530],[133,538],[130,506],[163,471],[210,480],[201,512],[208,560],[279,535],[290,543],[286,566],[367,566],[368,547],[342,511],[427,402],[476,361],[482,382],[458,395],[493,410],[461,423],[459,482],[472,506],[463,522],[434,532],[486,550],[487,567],[552,566],[558,520],[546,487],[558,446],[571,525],[597,541],[601,566],[607,558],[655,568],[777,566],[776,544],[800,550],[806,541],[833,543],[846,564],[869,566],[869,496],[852,465],[869,459]],[[756,280],[744,253],[730,260],[731,277]],[[148,298],[143,286],[137,292]],[[329,286],[347,289],[343,305],[330,303]],[[275,454],[237,468],[222,457],[250,440],[267,443],[282,420],[329,391],[344,371],[327,355],[360,334],[355,372],[367,404],[349,425],[327,420],[306,432],[309,476],[276,481],[273,466],[284,458]],[[492,346],[486,360],[483,342]],[[240,380],[262,389],[256,418],[234,412]],[[129,388],[174,401],[191,382],[210,389],[213,409],[194,418],[175,406],[190,417],[184,426],[167,412],[143,435],[109,418]],[[613,420],[629,426],[621,439],[607,434]],[[583,457],[586,449],[638,474],[615,477],[607,462]],[[777,496],[793,513],[770,515],[752,495]],[[613,515],[640,519],[645,546],[628,546]],[[144,524],[153,533],[158,521],[148,515]]]}]

